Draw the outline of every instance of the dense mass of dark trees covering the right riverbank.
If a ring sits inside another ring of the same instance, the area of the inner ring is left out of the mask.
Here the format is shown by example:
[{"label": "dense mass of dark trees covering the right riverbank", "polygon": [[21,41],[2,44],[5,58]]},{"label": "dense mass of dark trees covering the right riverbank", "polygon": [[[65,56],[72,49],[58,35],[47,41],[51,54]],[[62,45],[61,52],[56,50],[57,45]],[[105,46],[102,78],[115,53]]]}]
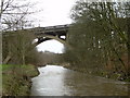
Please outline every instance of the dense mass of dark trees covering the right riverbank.
[{"label": "dense mass of dark trees covering the right riverbank", "polygon": [[72,9],[73,24],[65,61],[88,73],[119,79],[130,76],[130,2],[88,2],[79,0]]}]

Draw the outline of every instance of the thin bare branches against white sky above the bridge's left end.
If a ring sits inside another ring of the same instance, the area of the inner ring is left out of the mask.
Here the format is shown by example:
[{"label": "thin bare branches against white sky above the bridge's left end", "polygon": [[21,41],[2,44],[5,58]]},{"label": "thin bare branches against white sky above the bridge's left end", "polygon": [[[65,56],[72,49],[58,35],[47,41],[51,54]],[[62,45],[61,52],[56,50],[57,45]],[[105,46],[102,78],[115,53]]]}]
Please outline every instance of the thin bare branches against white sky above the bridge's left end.
[{"label": "thin bare branches against white sky above the bridge's left end", "polygon": [[26,16],[34,13],[29,11],[31,7],[32,4],[27,1],[2,0],[0,11],[2,29],[13,30],[25,26],[25,23],[27,23],[27,20],[25,21]]}]

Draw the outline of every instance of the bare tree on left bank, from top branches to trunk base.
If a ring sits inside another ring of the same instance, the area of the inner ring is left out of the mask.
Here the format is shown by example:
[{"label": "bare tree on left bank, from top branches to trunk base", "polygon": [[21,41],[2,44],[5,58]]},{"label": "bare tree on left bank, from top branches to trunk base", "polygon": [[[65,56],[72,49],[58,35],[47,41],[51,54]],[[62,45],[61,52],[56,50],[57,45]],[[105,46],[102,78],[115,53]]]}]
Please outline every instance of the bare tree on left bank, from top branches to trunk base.
[{"label": "bare tree on left bank, from top branches to trunk base", "polygon": [[26,1],[22,3],[15,0],[1,1],[3,63],[8,63],[12,58],[15,63],[17,61],[18,64],[25,64],[25,58],[31,50],[34,39],[29,30],[24,30],[25,27],[31,26],[27,19],[28,14],[34,13],[29,11],[31,5]]}]

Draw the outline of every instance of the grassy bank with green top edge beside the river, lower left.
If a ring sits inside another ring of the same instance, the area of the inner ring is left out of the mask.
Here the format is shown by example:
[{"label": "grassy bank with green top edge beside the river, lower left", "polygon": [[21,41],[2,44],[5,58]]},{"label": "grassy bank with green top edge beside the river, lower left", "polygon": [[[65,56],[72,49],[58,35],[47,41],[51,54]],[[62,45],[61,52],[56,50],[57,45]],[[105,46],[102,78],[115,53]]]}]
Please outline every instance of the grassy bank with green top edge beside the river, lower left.
[{"label": "grassy bank with green top edge beside the river, lower left", "polygon": [[30,77],[39,73],[35,65],[2,65],[2,96],[29,96]]}]

